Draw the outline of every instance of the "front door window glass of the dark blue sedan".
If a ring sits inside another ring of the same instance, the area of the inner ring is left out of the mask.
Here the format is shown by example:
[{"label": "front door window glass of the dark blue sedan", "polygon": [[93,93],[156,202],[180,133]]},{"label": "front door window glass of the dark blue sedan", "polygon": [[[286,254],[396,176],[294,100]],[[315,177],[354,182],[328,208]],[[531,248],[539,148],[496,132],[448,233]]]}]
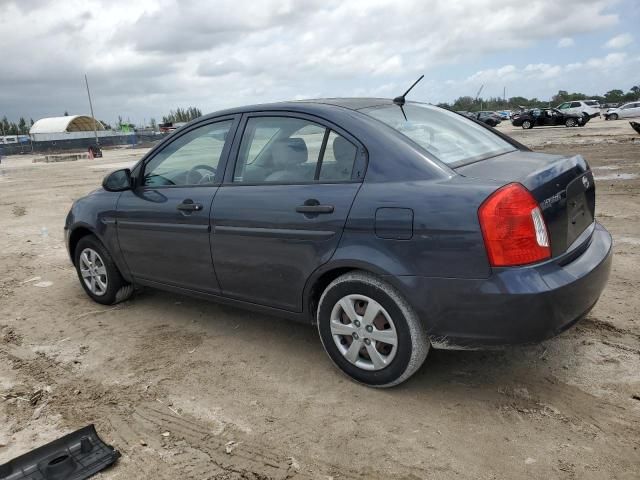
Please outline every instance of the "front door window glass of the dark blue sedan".
[{"label": "front door window glass of the dark blue sedan", "polygon": [[215,183],[232,120],[194,128],[165,145],[145,165],[143,186],[211,185]]}]

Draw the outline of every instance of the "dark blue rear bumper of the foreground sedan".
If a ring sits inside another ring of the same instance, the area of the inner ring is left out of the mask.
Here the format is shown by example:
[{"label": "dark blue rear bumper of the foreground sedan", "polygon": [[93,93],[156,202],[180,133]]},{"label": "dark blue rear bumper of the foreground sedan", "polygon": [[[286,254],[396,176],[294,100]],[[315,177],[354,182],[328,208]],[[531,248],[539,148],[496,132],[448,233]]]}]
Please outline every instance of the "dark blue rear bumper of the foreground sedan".
[{"label": "dark blue rear bumper of the foreground sedan", "polygon": [[560,258],[494,269],[487,279],[414,276],[394,277],[394,283],[424,320],[435,348],[536,343],[575,324],[605,288],[611,235],[595,223],[583,236]]}]

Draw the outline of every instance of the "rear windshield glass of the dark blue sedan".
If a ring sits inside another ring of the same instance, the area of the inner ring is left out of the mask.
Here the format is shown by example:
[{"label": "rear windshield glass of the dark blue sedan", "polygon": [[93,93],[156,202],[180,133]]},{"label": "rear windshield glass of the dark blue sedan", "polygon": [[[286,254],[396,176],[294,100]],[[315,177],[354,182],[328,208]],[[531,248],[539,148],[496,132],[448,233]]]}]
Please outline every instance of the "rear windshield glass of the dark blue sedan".
[{"label": "rear windshield glass of the dark blue sedan", "polygon": [[386,123],[448,165],[459,166],[516,150],[468,118],[431,105],[406,104],[404,115],[397,105],[361,111]]}]

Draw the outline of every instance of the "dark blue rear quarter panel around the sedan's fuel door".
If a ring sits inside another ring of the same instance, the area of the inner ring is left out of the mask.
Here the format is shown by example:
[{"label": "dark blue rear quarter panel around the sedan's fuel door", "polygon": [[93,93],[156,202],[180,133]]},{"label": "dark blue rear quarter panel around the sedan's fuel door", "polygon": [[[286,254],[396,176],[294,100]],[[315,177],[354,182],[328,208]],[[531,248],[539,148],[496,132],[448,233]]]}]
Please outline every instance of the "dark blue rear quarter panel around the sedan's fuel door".
[{"label": "dark blue rear quarter panel around the sedan's fuel door", "polygon": [[[477,211],[499,186],[459,175],[447,180],[365,182],[331,263],[370,264],[373,271],[389,275],[487,278],[491,269]],[[411,237],[383,238],[376,225],[380,208],[410,209]]]}]

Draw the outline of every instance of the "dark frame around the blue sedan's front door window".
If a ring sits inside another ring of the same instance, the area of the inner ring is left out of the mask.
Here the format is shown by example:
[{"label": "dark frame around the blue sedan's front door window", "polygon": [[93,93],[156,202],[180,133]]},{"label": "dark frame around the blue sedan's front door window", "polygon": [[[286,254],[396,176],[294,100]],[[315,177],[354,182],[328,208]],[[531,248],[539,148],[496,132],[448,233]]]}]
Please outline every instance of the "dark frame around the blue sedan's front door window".
[{"label": "dark frame around the blue sedan's front door window", "polygon": [[[238,124],[240,123],[241,115],[225,115],[222,117],[209,118],[206,120],[197,121],[192,125],[185,125],[179,130],[176,130],[175,133],[172,133],[169,137],[167,137],[164,141],[160,142],[156,147],[154,147],[146,157],[144,157],[133,169],[132,169],[132,182],[134,190],[158,190],[165,188],[203,188],[203,187],[219,187],[222,184],[222,179],[224,178],[224,171],[226,169],[228,160],[229,160],[229,152],[231,151],[231,147],[235,140],[236,133],[238,131]],[[162,152],[166,147],[171,145],[173,142],[179,140],[182,136],[187,133],[192,132],[198,128],[206,127],[208,125],[214,125],[216,123],[228,122],[231,121],[231,126],[229,127],[229,133],[227,134],[227,140],[225,141],[224,147],[222,147],[222,153],[220,154],[220,160],[218,162],[218,167],[216,168],[216,175],[213,179],[213,183],[209,183],[206,185],[142,185],[142,180],[144,179],[144,171],[147,167],[147,164],[151,162],[156,155]],[[135,175],[134,173],[135,172]]]}]

